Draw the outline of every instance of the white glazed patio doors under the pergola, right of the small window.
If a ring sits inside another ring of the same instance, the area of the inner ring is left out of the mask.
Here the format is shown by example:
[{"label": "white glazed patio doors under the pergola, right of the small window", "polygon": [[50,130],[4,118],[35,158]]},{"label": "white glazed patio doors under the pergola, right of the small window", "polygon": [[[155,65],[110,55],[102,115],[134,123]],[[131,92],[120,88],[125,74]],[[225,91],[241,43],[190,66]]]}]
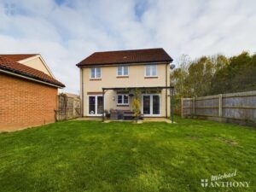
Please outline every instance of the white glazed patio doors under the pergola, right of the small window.
[{"label": "white glazed patio doors under the pergola, right of the small window", "polygon": [[144,116],[160,116],[160,95],[145,94],[142,98]]}]

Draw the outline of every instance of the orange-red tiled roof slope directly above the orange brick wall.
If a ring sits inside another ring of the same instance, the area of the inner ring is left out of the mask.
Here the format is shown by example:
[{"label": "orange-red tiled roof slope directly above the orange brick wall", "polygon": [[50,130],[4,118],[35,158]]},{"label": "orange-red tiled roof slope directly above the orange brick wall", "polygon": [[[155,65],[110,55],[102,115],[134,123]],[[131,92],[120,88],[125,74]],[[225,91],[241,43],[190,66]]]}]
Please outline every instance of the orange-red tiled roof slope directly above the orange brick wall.
[{"label": "orange-red tiled roof slope directly above the orange brick wall", "polygon": [[27,67],[23,64],[20,64],[19,62],[4,57],[3,55],[0,55],[0,69],[9,73],[20,74],[21,76],[27,78],[37,79],[48,84],[54,84],[59,87],[65,87],[64,84],[61,84],[61,82],[57,81],[56,79],[53,79],[49,75],[32,67]]}]

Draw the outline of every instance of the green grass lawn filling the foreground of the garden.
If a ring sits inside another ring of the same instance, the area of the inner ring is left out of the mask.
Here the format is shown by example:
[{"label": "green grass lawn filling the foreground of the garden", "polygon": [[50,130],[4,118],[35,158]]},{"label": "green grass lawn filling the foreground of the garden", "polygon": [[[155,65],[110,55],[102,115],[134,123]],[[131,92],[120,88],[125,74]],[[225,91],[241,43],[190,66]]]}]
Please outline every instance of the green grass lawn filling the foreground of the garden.
[{"label": "green grass lawn filling the foreground of the garden", "polygon": [[[67,121],[0,134],[0,191],[256,191],[256,131],[177,124]],[[250,187],[204,189],[234,172]]]}]

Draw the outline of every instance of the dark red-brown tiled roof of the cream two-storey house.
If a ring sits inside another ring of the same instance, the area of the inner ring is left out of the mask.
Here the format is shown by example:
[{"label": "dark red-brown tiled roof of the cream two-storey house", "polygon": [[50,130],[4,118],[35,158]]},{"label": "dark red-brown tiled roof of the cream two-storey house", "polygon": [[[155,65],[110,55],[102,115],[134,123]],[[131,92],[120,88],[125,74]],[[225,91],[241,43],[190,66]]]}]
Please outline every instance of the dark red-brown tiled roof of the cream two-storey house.
[{"label": "dark red-brown tiled roof of the cream two-storey house", "polygon": [[142,63],[142,62],[172,62],[172,57],[165,49],[134,49],[95,52],[77,64],[78,67],[91,65]]}]

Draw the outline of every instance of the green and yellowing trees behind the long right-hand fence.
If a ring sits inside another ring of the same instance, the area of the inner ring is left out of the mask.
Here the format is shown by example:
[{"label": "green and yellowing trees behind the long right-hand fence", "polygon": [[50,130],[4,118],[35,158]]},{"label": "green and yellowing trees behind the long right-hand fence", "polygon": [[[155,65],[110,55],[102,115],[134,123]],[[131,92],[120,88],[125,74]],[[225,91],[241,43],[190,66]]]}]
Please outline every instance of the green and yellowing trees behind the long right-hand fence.
[{"label": "green and yellowing trees behind the long right-hand fence", "polygon": [[181,97],[209,96],[256,90],[256,54],[242,52],[230,58],[224,55],[201,56],[191,61],[182,55],[172,72],[176,111]]}]

